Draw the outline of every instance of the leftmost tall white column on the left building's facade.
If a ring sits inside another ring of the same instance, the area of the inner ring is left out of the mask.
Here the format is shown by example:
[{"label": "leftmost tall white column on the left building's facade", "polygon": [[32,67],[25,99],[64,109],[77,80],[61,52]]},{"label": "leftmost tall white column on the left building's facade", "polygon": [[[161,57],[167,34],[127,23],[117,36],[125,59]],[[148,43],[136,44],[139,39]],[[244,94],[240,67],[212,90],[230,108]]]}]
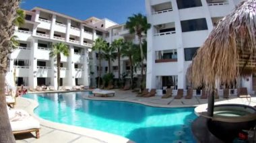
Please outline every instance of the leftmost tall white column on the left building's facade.
[{"label": "leftmost tall white column on the left building's facade", "polygon": [[38,48],[38,40],[34,39],[31,42],[31,52],[30,52],[30,76],[28,77],[28,85],[32,88],[36,88],[37,86],[37,48]]}]

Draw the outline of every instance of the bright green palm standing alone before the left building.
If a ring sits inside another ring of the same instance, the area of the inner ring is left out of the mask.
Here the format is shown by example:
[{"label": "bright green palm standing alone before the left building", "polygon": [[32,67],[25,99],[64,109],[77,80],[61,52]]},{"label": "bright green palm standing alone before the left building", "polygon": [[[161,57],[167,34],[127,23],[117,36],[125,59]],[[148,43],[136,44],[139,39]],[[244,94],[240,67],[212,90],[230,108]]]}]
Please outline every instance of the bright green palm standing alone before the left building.
[{"label": "bright green palm standing alone before the left building", "polygon": [[49,53],[49,55],[51,57],[57,58],[57,89],[59,90],[59,83],[60,83],[60,70],[59,68],[61,67],[61,54],[63,54],[64,56],[69,56],[69,47],[60,42],[60,43],[56,43],[53,44],[53,48],[51,48],[51,52]]}]

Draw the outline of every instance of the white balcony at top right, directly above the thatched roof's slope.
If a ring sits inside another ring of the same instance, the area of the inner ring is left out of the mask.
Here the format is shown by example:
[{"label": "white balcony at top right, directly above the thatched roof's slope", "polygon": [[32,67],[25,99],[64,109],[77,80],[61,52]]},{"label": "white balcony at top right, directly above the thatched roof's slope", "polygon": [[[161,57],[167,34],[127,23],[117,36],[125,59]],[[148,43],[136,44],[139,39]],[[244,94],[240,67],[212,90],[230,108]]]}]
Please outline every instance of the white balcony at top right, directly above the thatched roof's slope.
[{"label": "white balcony at top right, directly above the thatched roof's slope", "polygon": [[224,17],[232,11],[228,0],[207,0],[211,17]]}]

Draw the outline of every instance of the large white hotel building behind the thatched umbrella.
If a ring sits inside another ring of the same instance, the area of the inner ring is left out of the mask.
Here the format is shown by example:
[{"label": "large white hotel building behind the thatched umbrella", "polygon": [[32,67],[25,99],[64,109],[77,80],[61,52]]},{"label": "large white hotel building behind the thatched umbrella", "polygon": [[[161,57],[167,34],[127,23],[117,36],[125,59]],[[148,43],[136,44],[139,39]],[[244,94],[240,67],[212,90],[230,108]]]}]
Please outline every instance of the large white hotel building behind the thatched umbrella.
[{"label": "large white hotel building behind the thatched umbrella", "polygon": [[[187,89],[187,68],[216,22],[240,0],[146,0],[148,23],[148,89]],[[253,77],[240,79],[253,91]],[[220,88],[220,86],[219,86]],[[231,93],[230,93],[231,94]]]}]

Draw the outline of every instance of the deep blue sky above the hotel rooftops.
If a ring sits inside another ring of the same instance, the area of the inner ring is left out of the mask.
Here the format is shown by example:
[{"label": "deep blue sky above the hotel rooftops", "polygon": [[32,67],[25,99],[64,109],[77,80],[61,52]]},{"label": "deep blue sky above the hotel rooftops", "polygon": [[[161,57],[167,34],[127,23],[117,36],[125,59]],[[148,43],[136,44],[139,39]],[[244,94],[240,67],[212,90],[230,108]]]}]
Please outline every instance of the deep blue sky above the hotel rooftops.
[{"label": "deep blue sky above the hotel rooftops", "polygon": [[134,13],[146,14],[145,0],[22,0],[21,7],[42,7],[82,20],[106,17],[117,23],[125,23]]}]

